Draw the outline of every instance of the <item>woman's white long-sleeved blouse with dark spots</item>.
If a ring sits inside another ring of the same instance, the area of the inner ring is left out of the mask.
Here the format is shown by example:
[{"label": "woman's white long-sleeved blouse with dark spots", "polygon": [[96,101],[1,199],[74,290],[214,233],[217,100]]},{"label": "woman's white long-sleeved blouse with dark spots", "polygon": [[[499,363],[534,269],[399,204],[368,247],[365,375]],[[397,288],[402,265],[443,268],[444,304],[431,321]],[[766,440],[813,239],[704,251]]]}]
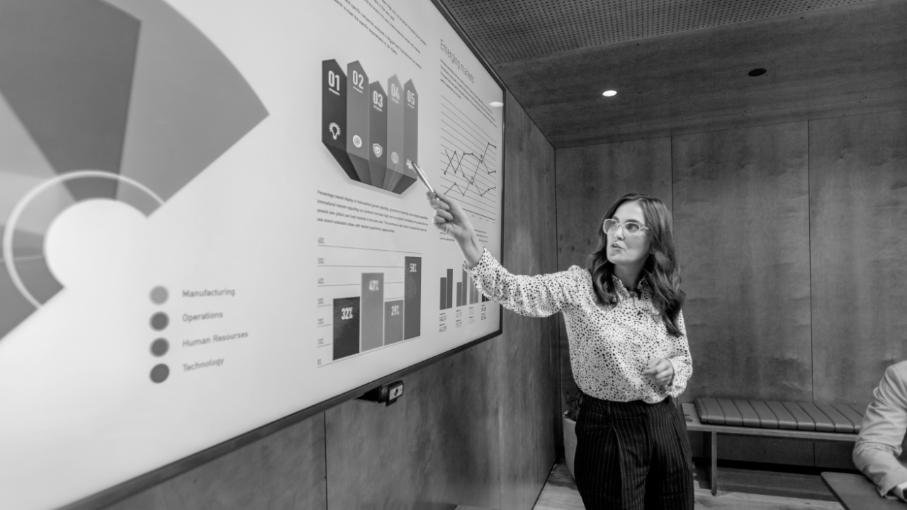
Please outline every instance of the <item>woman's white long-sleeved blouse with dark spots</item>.
[{"label": "woman's white long-sleeved blouse with dark spots", "polygon": [[[636,297],[614,277],[618,304],[602,306],[595,301],[589,271],[579,266],[546,275],[516,276],[484,250],[472,270],[465,264],[463,267],[473,276],[476,287],[505,309],[531,317],[563,313],[573,378],[586,395],[654,404],[668,396],[678,397],[687,387],[693,360],[683,312],[678,319],[681,335],[668,335],[645,280],[640,282]],[[659,386],[642,375],[653,358],[668,358],[674,365],[670,385]]]}]

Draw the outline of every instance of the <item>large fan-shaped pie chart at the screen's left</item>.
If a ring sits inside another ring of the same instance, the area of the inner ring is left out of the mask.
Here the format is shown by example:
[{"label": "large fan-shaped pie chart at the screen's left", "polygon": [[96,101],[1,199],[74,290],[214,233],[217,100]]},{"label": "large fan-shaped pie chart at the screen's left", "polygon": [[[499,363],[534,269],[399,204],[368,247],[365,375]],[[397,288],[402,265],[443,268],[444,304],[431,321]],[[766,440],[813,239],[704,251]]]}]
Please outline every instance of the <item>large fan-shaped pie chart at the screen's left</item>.
[{"label": "large fan-shaped pie chart at the screen's left", "polygon": [[0,3],[0,340],[63,289],[44,258],[62,211],[151,216],[267,116],[162,0]]}]

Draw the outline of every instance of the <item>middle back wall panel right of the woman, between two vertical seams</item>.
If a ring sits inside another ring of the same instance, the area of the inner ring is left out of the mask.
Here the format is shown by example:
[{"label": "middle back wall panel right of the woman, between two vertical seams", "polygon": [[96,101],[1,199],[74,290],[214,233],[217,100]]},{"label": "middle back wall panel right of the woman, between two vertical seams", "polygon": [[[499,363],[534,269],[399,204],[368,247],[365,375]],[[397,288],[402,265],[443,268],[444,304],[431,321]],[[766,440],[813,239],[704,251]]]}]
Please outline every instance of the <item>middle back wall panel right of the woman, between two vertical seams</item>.
[{"label": "middle back wall panel right of the woman, between two vertical seams", "polygon": [[674,137],[683,401],[812,398],[806,138],[806,123]]}]

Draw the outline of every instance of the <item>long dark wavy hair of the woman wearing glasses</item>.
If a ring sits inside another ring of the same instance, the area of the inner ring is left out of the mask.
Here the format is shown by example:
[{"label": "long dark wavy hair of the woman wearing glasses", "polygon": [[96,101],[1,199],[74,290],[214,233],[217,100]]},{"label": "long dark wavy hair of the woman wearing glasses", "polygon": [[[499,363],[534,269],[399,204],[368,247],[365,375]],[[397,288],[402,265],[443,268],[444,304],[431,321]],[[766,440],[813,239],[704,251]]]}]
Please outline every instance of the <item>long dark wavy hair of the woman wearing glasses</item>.
[{"label": "long dark wavy hair of the woman wearing glasses", "polygon": [[[641,193],[629,193],[614,202],[599,222],[599,247],[591,254],[589,271],[595,299],[600,305],[616,305],[617,291],[614,289],[614,264],[608,260],[608,234],[602,225],[614,218],[615,211],[627,202],[638,202],[643,218],[649,228],[649,258],[643,266],[643,278],[652,288],[652,302],[665,322],[668,334],[680,336],[678,317],[687,294],[680,289],[680,268],[677,252],[674,250],[674,232],[671,229],[671,211],[664,202]],[[645,230],[644,230],[645,231]]]}]

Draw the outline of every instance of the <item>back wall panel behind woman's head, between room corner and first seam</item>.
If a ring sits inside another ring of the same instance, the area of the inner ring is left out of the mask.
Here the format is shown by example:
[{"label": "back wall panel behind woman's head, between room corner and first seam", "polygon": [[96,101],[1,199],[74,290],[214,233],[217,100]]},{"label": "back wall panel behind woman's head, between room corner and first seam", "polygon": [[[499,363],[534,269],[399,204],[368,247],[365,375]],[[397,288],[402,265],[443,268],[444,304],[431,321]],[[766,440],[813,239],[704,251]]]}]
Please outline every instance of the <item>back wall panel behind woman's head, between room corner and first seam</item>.
[{"label": "back wall panel behind woman's head, between room corner and first seam", "polygon": [[[630,192],[648,193],[671,207],[671,139],[617,142],[557,151],[558,269],[586,267],[598,243],[602,215]],[[567,329],[560,324],[561,408],[575,394]]]}]

